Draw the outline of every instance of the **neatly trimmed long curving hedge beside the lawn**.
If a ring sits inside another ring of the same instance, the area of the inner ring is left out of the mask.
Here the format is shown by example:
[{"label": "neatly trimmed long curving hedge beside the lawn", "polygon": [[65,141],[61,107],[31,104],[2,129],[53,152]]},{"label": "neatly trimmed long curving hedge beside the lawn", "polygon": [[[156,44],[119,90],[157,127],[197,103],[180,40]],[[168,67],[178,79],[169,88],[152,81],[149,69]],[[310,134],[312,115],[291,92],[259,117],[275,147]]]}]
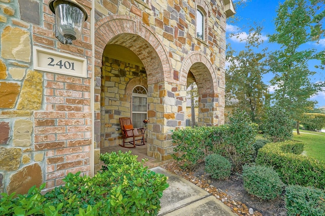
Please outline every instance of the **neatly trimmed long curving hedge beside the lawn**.
[{"label": "neatly trimmed long curving hedge beside the lawn", "polygon": [[288,149],[285,146],[292,145],[301,146],[301,143],[294,141],[268,143],[259,149],[255,162],[274,167],[286,185],[312,186],[324,190],[325,164],[313,158],[283,151]]}]

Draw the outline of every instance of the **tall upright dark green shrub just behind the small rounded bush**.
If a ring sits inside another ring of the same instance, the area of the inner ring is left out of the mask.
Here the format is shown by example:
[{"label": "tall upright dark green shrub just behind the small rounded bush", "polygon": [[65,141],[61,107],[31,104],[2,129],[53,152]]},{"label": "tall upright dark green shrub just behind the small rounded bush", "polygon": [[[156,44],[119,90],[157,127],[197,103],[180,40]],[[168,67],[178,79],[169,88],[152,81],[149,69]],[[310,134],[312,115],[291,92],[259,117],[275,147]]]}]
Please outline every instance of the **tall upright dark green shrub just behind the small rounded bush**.
[{"label": "tall upright dark green shrub just behind the small rounded bush", "polygon": [[239,170],[252,160],[257,124],[251,122],[246,112],[238,109],[229,119],[228,130],[221,143],[221,155],[232,161],[234,170]]}]

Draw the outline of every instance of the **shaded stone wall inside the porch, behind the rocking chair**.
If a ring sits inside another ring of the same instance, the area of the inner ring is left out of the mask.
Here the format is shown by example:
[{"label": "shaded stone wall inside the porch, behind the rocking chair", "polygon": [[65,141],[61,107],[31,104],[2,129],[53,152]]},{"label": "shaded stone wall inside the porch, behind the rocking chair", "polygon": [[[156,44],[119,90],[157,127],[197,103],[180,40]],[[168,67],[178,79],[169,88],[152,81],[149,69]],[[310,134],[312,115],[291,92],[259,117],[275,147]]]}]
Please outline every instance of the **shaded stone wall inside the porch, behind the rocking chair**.
[{"label": "shaded stone wall inside the porch, behind the rocking chair", "polygon": [[136,85],[147,88],[143,66],[103,56],[101,97],[101,146],[122,144],[119,117],[131,117],[132,91]]}]

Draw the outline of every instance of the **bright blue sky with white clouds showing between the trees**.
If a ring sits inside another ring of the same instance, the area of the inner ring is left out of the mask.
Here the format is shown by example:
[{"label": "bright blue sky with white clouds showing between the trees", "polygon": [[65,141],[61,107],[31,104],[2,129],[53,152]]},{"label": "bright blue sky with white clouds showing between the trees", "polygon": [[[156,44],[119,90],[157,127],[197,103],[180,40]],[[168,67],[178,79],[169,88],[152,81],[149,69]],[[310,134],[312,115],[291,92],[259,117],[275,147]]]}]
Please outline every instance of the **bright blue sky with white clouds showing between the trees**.
[{"label": "bright blue sky with white clouds showing between the trees", "polygon": [[[237,0],[233,0],[236,2]],[[284,0],[251,0],[246,3],[246,6],[243,8],[236,8],[236,15],[239,16],[240,20],[236,23],[227,24],[227,42],[231,43],[231,46],[234,50],[240,51],[244,49],[245,42],[240,41],[236,37],[229,37],[230,33],[240,34],[241,39],[245,39],[247,36],[248,29],[254,23],[257,25],[263,26],[264,29],[262,31],[262,38],[265,41],[264,46],[268,48],[268,51],[271,52],[278,48],[276,44],[268,42],[268,34],[274,33],[275,25],[274,18],[276,17],[276,10],[279,6],[279,3],[283,3]],[[325,6],[324,6],[325,7]],[[318,51],[325,49],[325,38],[322,38],[319,41],[319,44],[315,42],[310,42],[308,45],[309,48],[315,48]],[[319,64],[320,61],[310,61],[310,70],[316,71],[317,74],[312,77],[312,80],[319,81],[325,80],[325,72],[320,69],[316,69],[314,67],[315,64]],[[268,81],[272,78],[272,74],[269,73],[264,77],[264,81],[268,83]],[[270,92],[272,92],[273,87],[270,87]],[[318,93],[318,95],[311,98],[312,100],[317,101],[316,107],[325,106],[325,89]]]}]

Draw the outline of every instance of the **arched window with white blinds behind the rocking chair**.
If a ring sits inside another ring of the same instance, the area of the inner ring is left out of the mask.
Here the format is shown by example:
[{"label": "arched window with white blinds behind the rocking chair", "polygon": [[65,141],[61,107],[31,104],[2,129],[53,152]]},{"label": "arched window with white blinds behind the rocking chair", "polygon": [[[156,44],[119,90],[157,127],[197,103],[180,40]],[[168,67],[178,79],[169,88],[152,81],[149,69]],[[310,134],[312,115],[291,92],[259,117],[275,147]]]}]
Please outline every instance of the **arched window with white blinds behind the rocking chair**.
[{"label": "arched window with white blinds behind the rocking chair", "polygon": [[144,126],[143,120],[147,119],[147,91],[138,85],[132,92],[132,124],[133,127]]}]

